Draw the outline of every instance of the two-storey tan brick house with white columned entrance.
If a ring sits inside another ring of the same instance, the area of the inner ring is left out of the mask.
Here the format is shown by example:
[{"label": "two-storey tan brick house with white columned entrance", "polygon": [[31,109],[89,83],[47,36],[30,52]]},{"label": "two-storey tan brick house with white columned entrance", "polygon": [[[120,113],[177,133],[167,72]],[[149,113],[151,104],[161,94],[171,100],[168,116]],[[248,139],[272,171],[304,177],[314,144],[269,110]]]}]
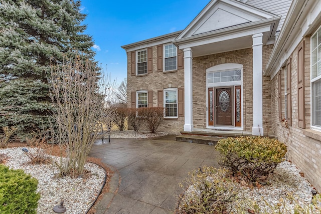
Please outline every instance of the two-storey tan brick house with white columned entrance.
[{"label": "two-storey tan brick house with white columned entrance", "polygon": [[320,12],[311,0],[212,0],[183,31],[122,46],[128,107],[165,107],[158,131],[173,134],[275,135],[321,190]]}]

